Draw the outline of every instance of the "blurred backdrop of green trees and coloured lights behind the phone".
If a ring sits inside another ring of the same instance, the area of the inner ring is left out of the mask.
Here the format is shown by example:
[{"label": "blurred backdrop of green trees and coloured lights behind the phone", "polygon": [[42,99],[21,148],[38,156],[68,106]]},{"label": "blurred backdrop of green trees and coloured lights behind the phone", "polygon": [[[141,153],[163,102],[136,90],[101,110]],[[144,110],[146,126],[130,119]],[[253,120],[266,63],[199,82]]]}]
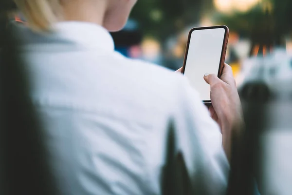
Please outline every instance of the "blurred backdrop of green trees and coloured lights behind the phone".
[{"label": "blurred backdrop of green trees and coloured lights behind the phone", "polygon": [[290,18],[291,0],[138,0],[125,29],[113,37],[124,55],[176,70],[191,28],[227,25],[226,62],[237,76],[247,59],[275,49],[292,54]]}]

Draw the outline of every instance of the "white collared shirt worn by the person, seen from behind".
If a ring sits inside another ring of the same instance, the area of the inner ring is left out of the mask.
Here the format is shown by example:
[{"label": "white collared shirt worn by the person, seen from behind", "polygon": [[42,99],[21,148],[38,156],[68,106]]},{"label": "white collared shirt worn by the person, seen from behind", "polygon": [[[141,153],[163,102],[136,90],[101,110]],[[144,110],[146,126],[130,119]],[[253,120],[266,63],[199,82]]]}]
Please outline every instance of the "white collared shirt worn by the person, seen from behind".
[{"label": "white collared shirt worn by the person, seen from behind", "polygon": [[123,57],[95,24],[61,22],[43,35],[18,30],[64,195],[160,195],[170,119],[192,185],[223,194],[229,165],[219,126],[186,78]]}]

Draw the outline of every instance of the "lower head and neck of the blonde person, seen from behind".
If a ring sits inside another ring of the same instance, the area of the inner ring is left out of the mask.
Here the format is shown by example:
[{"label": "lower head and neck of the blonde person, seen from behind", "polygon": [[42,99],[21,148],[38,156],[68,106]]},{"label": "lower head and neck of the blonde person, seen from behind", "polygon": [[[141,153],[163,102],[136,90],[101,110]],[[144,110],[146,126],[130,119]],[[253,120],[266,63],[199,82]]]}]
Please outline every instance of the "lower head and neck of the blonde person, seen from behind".
[{"label": "lower head and neck of the blonde person, seen from behind", "polygon": [[48,31],[60,20],[96,23],[121,30],[137,0],[14,0],[28,25]]}]

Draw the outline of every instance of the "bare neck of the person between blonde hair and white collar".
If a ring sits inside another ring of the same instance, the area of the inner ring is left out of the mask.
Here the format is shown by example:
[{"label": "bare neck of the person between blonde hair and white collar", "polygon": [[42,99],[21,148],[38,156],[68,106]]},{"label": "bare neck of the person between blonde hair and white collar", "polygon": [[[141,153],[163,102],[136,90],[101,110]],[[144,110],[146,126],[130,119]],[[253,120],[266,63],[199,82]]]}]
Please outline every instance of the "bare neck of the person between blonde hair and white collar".
[{"label": "bare neck of the person between blonde hair and white collar", "polygon": [[63,21],[84,21],[103,25],[106,0],[63,0]]}]

